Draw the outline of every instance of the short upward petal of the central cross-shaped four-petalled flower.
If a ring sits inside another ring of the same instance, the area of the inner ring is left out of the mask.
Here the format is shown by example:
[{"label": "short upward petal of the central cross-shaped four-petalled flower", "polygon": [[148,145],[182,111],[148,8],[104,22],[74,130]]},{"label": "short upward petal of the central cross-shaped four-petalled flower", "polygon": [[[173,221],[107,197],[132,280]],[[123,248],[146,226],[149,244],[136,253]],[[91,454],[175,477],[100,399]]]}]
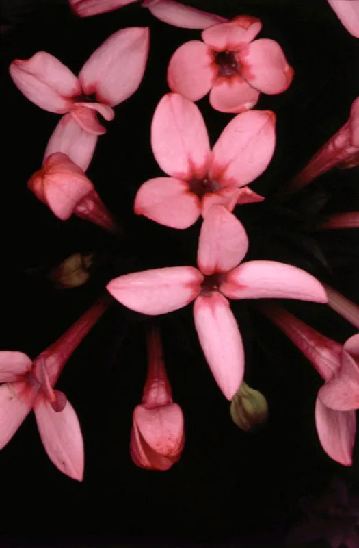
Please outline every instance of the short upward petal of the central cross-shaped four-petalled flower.
[{"label": "short upward petal of the central cross-shaped four-petalled flower", "polygon": [[207,276],[228,272],[245,257],[248,236],[238,219],[219,203],[209,208],[200,231],[197,262]]}]

